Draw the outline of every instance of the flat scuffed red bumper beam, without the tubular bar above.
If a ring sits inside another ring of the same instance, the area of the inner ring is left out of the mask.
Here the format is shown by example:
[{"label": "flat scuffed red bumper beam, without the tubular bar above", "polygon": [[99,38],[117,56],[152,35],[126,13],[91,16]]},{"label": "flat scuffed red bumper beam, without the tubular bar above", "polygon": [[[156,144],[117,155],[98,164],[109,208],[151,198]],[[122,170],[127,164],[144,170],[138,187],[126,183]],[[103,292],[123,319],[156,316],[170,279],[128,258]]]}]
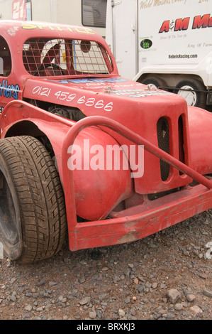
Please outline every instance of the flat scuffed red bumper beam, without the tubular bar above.
[{"label": "flat scuffed red bumper beam, without the tubular bar above", "polygon": [[164,230],[178,222],[211,208],[212,190],[199,188],[199,193],[157,206],[133,215],[96,222],[69,222],[69,248],[72,251],[133,242]]}]

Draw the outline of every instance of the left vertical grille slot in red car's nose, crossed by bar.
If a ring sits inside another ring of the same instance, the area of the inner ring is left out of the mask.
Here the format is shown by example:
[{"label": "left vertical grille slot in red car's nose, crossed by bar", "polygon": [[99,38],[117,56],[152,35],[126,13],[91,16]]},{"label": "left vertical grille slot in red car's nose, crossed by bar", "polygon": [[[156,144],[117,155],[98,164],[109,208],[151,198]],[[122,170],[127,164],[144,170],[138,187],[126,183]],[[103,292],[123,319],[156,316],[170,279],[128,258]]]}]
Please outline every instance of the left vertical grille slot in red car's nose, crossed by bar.
[{"label": "left vertical grille slot in red car's nose, crossed by bar", "polygon": [[[157,141],[158,147],[164,152],[169,153],[169,123],[165,117],[161,117],[157,122]],[[160,174],[162,181],[167,181],[170,166],[160,160]]]}]

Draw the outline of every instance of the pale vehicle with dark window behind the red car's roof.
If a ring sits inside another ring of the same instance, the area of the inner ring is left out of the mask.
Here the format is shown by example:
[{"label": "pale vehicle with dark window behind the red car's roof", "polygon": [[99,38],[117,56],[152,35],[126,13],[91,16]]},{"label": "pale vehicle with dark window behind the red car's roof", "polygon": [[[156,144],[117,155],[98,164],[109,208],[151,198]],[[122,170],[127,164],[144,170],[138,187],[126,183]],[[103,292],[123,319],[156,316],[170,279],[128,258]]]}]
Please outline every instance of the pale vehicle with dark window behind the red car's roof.
[{"label": "pale vehicle with dark window behind the red car's roof", "polygon": [[105,37],[106,3],[107,0],[0,0],[0,19],[86,26]]}]

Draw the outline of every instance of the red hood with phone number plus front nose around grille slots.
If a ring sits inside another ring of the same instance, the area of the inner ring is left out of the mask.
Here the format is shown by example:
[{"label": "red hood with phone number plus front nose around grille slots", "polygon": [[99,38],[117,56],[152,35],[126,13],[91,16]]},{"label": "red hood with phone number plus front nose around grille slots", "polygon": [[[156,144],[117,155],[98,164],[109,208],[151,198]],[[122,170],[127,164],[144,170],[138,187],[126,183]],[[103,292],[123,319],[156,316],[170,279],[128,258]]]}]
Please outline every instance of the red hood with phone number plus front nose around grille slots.
[{"label": "red hood with phone number plus front nose around grille slots", "polygon": [[[162,90],[149,89],[145,85],[122,77],[30,78],[23,90],[23,97],[78,108],[87,117],[99,115],[111,118],[156,146],[158,145],[157,122],[161,117],[170,120],[169,123],[173,129],[172,138],[170,137],[171,144],[178,138],[178,122],[182,114],[187,126],[187,106],[182,97]],[[114,131],[107,128],[104,130],[121,145],[130,145],[130,142]],[[174,147],[173,155],[178,158],[177,146],[175,144],[172,146]],[[160,171],[159,159],[147,151],[145,151],[144,163],[146,166],[157,166]],[[167,190],[167,186],[175,187],[175,183],[162,184],[160,175],[156,176],[149,167],[146,169],[149,171],[143,178],[135,180],[135,189],[138,193],[146,191],[155,193],[156,190],[157,192]],[[183,185],[186,179],[176,182],[178,185]]]}]

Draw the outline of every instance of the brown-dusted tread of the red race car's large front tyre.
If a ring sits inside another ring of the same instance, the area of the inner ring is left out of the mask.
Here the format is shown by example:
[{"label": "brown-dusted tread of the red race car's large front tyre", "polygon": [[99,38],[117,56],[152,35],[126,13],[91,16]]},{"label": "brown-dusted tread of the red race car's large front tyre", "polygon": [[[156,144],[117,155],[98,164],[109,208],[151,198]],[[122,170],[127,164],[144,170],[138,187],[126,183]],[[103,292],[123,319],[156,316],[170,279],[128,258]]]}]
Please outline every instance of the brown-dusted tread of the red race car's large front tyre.
[{"label": "brown-dusted tread of the red race car's large front tyre", "polygon": [[18,262],[38,262],[56,254],[66,234],[65,200],[55,165],[31,136],[2,139],[0,153],[16,188],[23,252]]}]

